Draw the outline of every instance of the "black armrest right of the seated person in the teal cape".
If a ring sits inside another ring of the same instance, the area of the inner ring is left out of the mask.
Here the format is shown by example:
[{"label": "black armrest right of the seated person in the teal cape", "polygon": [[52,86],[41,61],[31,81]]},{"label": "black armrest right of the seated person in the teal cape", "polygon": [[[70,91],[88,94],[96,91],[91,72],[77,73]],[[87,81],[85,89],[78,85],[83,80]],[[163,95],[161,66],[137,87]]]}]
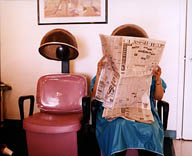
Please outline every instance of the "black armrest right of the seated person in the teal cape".
[{"label": "black armrest right of the seated person in the teal cape", "polygon": [[[162,114],[163,110],[163,114]],[[160,120],[163,122],[163,129],[166,131],[167,123],[168,123],[168,116],[169,116],[169,103],[166,101],[159,100],[157,102],[157,111],[160,117]],[[162,120],[163,117],[163,120]]]}]

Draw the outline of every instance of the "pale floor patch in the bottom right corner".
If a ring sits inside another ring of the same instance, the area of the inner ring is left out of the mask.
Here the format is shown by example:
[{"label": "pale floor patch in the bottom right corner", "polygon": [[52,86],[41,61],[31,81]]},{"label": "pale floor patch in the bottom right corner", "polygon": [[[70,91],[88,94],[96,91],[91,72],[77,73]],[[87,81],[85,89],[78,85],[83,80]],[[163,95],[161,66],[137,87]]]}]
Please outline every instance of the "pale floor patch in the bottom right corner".
[{"label": "pale floor patch in the bottom right corner", "polygon": [[173,140],[176,156],[192,156],[192,141]]}]

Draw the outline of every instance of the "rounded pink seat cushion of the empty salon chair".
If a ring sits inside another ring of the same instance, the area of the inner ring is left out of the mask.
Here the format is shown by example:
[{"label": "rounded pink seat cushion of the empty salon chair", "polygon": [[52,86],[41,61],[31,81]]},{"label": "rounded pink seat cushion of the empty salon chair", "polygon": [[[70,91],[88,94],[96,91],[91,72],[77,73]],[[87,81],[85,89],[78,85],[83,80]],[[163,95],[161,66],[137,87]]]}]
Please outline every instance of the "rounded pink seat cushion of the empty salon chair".
[{"label": "rounded pink seat cushion of the empty salon chair", "polygon": [[26,131],[36,133],[76,132],[81,128],[82,112],[66,114],[36,113],[23,120]]}]

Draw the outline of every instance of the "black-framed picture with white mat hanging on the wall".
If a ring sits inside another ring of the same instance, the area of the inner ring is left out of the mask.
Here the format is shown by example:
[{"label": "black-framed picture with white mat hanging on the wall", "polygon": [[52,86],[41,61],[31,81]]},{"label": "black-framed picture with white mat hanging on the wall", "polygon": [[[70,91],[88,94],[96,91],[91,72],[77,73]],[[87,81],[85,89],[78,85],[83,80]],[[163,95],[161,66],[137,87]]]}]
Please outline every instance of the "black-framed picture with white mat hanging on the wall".
[{"label": "black-framed picture with white mat hanging on the wall", "polygon": [[108,0],[37,0],[38,24],[107,23]]}]

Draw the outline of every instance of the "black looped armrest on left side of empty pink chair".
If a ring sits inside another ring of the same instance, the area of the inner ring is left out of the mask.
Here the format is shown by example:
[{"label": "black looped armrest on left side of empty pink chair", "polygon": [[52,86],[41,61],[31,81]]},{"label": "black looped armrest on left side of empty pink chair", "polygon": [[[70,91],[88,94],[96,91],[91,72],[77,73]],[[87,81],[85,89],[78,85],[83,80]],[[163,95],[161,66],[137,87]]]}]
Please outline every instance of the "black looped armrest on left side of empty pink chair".
[{"label": "black looped armrest on left side of empty pink chair", "polygon": [[19,97],[19,111],[20,111],[21,120],[24,119],[24,101],[28,100],[28,99],[30,100],[29,116],[33,115],[34,102],[35,102],[34,96],[33,95],[20,96]]}]

